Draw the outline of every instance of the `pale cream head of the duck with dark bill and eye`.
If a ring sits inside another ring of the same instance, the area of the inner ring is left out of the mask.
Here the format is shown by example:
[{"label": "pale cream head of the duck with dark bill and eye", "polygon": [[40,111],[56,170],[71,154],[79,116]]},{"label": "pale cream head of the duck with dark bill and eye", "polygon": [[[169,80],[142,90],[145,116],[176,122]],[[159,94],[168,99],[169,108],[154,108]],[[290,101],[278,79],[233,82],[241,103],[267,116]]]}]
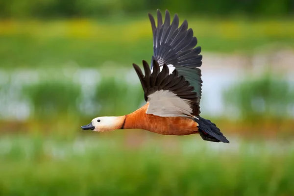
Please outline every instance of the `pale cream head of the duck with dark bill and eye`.
[{"label": "pale cream head of the duck with dark bill and eye", "polygon": [[125,120],[125,116],[121,117],[97,117],[91,123],[81,126],[83,130],[93,130],[98,132],[113,131],[121,129]]}]

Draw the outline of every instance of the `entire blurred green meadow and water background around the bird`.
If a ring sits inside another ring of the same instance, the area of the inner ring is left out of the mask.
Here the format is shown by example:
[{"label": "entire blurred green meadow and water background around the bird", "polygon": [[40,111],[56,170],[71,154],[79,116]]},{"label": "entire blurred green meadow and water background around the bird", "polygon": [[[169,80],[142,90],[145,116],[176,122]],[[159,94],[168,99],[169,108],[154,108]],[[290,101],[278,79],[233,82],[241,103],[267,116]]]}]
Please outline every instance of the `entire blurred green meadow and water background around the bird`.
[{"label": "entire blurred green meadow and water background around the bird", "polygon": [[[188,20],[230,144],[81,131],[144,95],[147,12]],[[293,196],[293,0],[0,0],[0,195]]]}]

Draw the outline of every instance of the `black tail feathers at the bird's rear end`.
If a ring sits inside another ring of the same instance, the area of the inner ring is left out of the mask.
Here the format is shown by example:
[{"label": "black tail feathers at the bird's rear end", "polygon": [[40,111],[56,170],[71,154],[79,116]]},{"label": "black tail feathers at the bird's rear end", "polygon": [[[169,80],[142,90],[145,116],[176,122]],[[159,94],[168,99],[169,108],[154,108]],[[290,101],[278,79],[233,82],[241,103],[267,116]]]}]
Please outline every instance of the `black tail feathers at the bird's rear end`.
[{"label": "black tail feathers at the bird's rear end", "polygon": [[224,135],[221,133],[221,130],[215,123],[203,119],[202,117],[197,117],[194,119],[194,121],[199,124],[198,130],[203,140],[210,142],[230,143],[226,137],[224,137]]}]

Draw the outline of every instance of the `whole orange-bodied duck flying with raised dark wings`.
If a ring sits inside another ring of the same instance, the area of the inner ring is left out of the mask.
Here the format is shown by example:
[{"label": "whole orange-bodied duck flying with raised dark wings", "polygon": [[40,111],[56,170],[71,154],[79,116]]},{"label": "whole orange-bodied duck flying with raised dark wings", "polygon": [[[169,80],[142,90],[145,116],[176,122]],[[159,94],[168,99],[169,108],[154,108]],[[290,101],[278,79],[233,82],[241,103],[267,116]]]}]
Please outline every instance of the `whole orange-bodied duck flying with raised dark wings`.
[{"label": "whole orange-bodied duck flying with raised dark wings", "polygon": [[151,64],[143,60],[144,73],[133,64],[147,103],[124,116],[97,117],[81,129],[144,129],[162,135],[197,133],[206,141],[229,143],[216,124],[199,116],[202,55],[188,22],[179,26],[175,14],[171,23],[168,10],[164,22],[157,10],[157,26],[153,16],[148,16],[153,33]]}]

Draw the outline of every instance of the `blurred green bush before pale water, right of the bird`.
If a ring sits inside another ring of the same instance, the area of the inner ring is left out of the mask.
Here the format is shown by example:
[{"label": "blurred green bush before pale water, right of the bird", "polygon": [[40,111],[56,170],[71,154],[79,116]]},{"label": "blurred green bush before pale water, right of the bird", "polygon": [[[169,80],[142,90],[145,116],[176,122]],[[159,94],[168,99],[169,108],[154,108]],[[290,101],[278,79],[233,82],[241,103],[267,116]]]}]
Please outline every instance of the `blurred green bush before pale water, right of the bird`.
[{"label": "blurred green bush before pale water, right of the bird", "polygon": [[289,117],[289,109],[294,107],[294,89],[287,80],[270,72],[247,78],[224,92],[227,106],[237,108],[241,119],[251,123]]}]

